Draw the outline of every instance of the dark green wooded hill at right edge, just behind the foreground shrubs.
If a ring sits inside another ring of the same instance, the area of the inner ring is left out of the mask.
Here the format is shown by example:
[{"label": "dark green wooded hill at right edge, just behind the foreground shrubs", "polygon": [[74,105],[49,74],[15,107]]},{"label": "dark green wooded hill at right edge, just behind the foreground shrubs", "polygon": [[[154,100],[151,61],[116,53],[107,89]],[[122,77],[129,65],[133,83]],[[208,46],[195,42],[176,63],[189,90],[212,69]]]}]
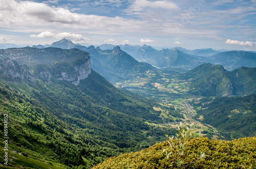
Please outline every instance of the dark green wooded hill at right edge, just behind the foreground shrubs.
[{"label": "dark green wooded hill at right edge, just behind the foreground shrubs", "polygon": [[256,95],[201,99],[193,106],[200,106],[197,118],[202,116],[202,122],[216,127],[225,139],[256,135]]}]

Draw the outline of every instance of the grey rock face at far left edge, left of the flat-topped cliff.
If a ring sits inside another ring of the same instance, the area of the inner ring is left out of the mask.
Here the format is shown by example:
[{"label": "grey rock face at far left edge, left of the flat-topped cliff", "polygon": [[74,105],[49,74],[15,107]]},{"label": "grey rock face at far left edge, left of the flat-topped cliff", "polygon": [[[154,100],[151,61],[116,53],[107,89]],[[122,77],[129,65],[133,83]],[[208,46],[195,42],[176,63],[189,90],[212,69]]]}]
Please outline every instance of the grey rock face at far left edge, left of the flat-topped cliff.
[{"label": "grey rock face at far left edge, left of the flat-topped cliff", "polygon": [[18,79],[21,81],[34,81],[35,78],[27,65],[18,65],[10,59],[0,58],[0,72],[8,79]]}]

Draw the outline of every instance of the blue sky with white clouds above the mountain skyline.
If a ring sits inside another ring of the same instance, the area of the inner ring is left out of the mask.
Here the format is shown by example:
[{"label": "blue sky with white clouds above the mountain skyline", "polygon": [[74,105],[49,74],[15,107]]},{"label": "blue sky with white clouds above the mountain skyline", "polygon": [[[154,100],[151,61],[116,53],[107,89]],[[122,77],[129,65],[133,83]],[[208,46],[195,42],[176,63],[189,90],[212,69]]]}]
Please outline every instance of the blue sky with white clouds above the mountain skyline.
[{"label": "blue sky with white clouds above the mountain skyline", "polygon": [[256,50],[256,0],[0,0],[0,43]]}]

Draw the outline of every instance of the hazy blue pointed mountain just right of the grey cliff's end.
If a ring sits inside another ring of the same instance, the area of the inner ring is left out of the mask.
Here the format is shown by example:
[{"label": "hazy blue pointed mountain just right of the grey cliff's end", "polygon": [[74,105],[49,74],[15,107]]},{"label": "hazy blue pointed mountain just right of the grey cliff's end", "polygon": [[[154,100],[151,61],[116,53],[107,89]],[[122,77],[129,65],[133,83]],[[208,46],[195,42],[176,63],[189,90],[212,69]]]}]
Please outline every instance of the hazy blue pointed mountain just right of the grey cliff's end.
[{"label": "hazy blue pointed mountain just right of the grey cliff's end", "polygon": [[114,47],[113,50],[96,48],[90,52],[90,55],[92,69],[111,82],[131,79],[140,71],[156,69],[150,64],[136,61],[131,55],[122,51],[119,46]]}]

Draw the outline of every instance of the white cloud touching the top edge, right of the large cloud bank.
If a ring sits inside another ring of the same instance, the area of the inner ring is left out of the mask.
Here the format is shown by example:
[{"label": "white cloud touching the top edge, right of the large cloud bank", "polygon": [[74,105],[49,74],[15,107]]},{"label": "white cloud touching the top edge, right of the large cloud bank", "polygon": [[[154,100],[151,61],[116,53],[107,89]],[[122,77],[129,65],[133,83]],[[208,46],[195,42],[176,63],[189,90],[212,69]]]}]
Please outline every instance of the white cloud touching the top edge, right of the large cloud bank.
[{"label": "white cloud touching the top edge, right of the large cloud bank", "polygon": [[144,8],[162,8],[168,10],[177,10],[179,7],[173,2],[169,1],[147,1],[147,0],[136,0],[130,7],[132,11],[142,11]]}]

